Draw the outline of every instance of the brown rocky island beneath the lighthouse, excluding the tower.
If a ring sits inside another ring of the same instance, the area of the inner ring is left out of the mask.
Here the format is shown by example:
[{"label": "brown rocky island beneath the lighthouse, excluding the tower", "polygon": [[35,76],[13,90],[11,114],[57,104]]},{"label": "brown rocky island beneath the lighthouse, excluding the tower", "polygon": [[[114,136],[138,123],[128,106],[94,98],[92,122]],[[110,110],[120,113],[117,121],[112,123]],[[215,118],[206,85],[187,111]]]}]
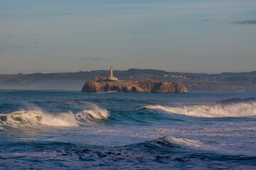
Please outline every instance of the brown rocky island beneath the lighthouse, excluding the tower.
[{"label": "brown rocky island beneath the lighthouse, excluding the tower", "polygon": [[159,82],[151,79],[117,80],[112,81],[105,77],[95,77],[86,81],[82,93],[98,93],[118,91],[129,93],[188,93],[181,83],[174,81]]}]

